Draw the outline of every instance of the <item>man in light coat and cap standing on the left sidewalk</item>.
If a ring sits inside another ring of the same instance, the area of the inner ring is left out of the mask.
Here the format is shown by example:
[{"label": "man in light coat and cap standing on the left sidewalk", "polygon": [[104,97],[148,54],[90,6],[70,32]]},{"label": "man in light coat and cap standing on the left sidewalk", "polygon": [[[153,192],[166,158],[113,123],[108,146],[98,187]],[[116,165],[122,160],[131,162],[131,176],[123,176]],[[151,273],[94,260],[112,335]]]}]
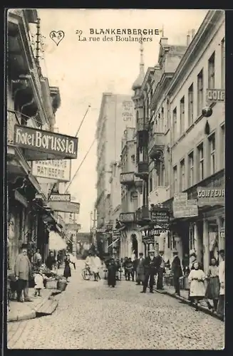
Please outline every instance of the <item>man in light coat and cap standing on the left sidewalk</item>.
[{"label": "man in light coat and cap standing on the left sidewalk", "polygon": [[[14,273],[17,281],[17,300],[18,302],[31,302],[29,298],[29,278],[31,276],[31,262],[27,256],[27,246],[23,244],[21,246],[21,252],[16,257],[16,263],[14,265]],[[24,292],[24,299],[22,293]]]}]

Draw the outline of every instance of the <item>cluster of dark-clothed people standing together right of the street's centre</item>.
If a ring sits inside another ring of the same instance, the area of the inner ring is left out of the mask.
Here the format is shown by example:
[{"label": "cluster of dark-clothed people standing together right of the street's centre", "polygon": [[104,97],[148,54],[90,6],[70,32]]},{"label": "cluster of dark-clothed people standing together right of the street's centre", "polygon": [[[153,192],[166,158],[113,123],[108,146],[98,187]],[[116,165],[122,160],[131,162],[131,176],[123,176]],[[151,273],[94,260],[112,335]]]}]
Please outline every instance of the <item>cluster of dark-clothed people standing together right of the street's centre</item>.
[{"label": "cluster of dark-clothed people standing together right of the street's centre", "polygon": [[143,290],[141,293],[146,293],[149,283],[150,293],[153,293],[155,285],[155,276],[157,276],[157,289],[163,289],[163,273],[165,271],[165,261],[163,259],[163,251],[155,256],[155,251],[150,250],[149,256],[143,257],[143,253],[139,253],[139,258],[132,261],[131,258],[125,257],[123,262],[125,271],[125,281],[136,281],[137,285],[142,283]]}]

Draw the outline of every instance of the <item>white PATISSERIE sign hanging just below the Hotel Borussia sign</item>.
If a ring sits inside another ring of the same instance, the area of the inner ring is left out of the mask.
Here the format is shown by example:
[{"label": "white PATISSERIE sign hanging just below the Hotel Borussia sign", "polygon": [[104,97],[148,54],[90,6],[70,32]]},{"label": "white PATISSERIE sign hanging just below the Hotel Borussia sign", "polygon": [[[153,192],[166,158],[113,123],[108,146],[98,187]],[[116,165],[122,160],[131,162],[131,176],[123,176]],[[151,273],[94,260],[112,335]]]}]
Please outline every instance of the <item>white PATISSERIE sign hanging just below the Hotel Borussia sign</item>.
[{"label": "white PATISSERIE sign hanging just below the Hotel Borussia sign", "polygon": [[56,179],[58,182],[70,182],[71,159],[32,161],[31,173],[35,177]]}]

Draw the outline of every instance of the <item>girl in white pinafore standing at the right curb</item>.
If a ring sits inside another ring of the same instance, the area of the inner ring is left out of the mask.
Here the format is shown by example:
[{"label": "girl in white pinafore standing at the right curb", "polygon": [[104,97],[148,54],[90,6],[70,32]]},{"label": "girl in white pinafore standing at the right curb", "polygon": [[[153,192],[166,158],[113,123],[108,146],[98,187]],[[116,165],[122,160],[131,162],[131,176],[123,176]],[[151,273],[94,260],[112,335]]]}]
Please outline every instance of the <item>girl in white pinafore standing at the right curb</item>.
[{"label": "girl in white pinafore standing at the right curb", "polygon": [[198,303],[204,299],[205,286],[204,280],[206,278],[204,271],[200,268],[200,263],[195,262],[194,269],[190,271],[188,281],[190,283],[190,297],[195,301],[195,310],[198,310]]}]

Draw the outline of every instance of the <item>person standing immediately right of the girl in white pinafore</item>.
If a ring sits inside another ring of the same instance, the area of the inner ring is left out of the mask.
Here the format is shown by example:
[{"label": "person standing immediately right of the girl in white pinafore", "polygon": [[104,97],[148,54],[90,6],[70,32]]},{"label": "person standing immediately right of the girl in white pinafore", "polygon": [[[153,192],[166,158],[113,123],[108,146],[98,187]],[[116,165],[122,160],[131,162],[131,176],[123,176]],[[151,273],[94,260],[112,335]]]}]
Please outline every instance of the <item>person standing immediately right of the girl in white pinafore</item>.
[{"label": "person standing immediately right of the girl in white pinafore", "polygon": [[[215,257],[211,258],[210,265],[207,271],[207,290],[205,293],[205,298],[207,298],[207,306],[209,310],[217,311],[217,303],[219,300],[219,268],[217,266],[217,260]],[[209,303],[212,300],[213,305]]]}]

